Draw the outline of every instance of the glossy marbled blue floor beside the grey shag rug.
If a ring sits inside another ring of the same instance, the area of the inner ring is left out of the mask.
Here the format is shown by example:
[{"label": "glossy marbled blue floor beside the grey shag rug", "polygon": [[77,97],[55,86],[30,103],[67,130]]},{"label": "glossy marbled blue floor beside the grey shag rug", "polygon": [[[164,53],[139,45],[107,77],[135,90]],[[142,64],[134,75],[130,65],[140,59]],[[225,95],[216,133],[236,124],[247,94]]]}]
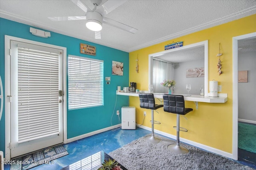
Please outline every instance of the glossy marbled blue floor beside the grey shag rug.
[{"label": "glossy marbled blue floor beside the grey shag rug", "polygon": [[[136,130],[110,130],[99,133],[78,141],[64,144],[68,155],[55,159],[54,164],[42,164],[31,168],[30,170],[60,170],[69,164],[86,158],[96,152],[103,150],[106,153],[112,152],[140,137],[150,134],[151,132],[140,127]],[[246,150],[238,150],[238,162],[256,169],[256,154]],[[4,170],[10,170],[10,165],[5,165]]]}]

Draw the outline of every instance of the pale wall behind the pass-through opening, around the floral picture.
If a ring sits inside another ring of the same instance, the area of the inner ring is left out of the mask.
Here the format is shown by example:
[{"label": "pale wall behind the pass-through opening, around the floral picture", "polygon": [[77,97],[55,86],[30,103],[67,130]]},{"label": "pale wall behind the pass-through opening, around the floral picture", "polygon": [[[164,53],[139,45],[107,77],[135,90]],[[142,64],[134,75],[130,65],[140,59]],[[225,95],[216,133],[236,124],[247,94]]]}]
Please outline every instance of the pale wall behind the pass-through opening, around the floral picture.
[{"label": "pale wall behind the pass-through opening, around the floral picture", "polygon": [[188,94],[186,91],[186,84],[191,84],[189,94],[200,95],[200,88],[201,86],[204,87],[204,77],[186,78],[186,69],[204,67],[204,60],[188,61],[179,64],[179,68],[174,70],[174,80],[176,81],[174,93]]}]

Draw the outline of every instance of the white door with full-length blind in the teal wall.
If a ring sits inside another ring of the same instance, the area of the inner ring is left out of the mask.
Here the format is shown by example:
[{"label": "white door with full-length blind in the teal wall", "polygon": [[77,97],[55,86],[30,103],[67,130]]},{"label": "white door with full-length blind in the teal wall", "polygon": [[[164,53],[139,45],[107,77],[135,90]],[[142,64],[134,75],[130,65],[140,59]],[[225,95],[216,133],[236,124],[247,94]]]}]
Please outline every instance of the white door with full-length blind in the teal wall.
[{"label": "white door with full-length blind in the teal wall", "polygon": [[10,157],[63,143],[63,51],[11,41]]}]

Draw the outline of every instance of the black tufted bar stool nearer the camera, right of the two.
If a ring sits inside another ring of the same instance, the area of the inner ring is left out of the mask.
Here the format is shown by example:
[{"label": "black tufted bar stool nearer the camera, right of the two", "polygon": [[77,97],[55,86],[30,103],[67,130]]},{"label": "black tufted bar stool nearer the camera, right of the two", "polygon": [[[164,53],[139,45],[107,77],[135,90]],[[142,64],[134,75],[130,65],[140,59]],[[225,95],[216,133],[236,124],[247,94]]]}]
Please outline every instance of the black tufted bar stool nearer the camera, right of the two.
[{"label": "black tufted bar stool nearer the camera, right of the two", "polygon": [[176,144],[169,145],[168,149],[176,154],[186,154],[188,149],[180,146],[180,131],[187,132],[188,130],[180,127],[180,115],[186,115],[188,112],[193,111],[193,109],[185,108],[184,96],[164,94],[163,98],[164,111],[177,114],[177,125],[176,127],[174,126],[174,129],[177,131],[177,141]]}]

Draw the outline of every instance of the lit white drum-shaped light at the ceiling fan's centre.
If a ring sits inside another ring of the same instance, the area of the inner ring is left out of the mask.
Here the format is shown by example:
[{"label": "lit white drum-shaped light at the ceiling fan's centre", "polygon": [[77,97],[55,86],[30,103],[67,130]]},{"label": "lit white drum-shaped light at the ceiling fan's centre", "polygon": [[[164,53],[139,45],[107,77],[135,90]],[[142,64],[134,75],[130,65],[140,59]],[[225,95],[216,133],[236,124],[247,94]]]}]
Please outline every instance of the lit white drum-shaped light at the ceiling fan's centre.
[{"label": "lit white drum-shaped light at the ceiling fan's centre", "polygon": [[103,17],[98,12],[89,11],[86,13],[86,27],[92,31],[100,31],[102,29]]}]

